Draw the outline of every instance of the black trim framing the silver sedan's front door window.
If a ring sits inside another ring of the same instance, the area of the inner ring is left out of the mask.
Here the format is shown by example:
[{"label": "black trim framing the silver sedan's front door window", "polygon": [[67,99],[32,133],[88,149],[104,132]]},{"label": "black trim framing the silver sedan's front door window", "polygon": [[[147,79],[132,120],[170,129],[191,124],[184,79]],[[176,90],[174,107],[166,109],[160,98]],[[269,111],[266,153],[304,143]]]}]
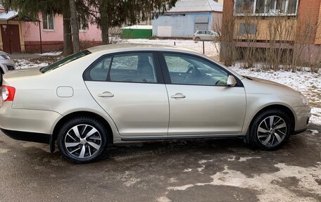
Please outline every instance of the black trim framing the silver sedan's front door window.
[{"label": "black trim framing the silver sedan's front door window", "polygon": [[212,65],[215,65],[216,67],[220,68],[220,70],[224,71],[227,73],[227,76],[232,75],[235,80],[237,80],[237,85],[235,87],[244,87],[243,83],[239,78],[235,75],[232,74],[232,72],[229,72],[228,70],[225,70],[225,68],[221,67],[218,63],[214,63],[213,61],[208,60],[208,58],[203,58],[198,55],[194,55],[191,53],[182,53],[182,52],[175,52],[175,51],[159,51],[158,52],[158,58],[160,60],[160,66],[162,68],[163,72],[163,77],[165,80],[165,84],[171,84],[171,85],[184,85],[184,86],[203,86],[203,87],[226,87],[226,86],[217,86],[217,85],[206,85],[206,84],[173,84],[172,81],[170,80],[170,71],[168,70],[168,65],[165,61],[164,53],[169,53],[169,54],[176,54],[176,55],[182,55],[182,56],[190,56],[194,58],[199,58],[203,61],[206,61]]}]

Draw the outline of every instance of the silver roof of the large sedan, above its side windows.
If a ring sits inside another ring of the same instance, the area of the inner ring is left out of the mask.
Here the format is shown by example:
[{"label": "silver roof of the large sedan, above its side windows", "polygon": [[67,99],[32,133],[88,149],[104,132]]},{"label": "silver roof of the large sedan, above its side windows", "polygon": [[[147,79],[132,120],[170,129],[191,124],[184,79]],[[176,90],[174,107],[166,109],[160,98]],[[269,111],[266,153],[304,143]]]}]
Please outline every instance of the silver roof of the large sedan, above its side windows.
[{"label": "silver roof of the large sedan, above its side windows", "polygon": [[187,49],[180,46],[166,46],[166,45],[157,45],[157,44],[108,44],[108,45],[101,45],[101,46],[94,46],[92,48],[87,49],[88,51],[94,53],[99,51],[111,51],[115,49],[134,49],[137,51],[144,51],[144,49],[148,49],[149,51],[166,51],[166,50],[176,50],[176,51],[192,51],[196,52],[191,49]]}]

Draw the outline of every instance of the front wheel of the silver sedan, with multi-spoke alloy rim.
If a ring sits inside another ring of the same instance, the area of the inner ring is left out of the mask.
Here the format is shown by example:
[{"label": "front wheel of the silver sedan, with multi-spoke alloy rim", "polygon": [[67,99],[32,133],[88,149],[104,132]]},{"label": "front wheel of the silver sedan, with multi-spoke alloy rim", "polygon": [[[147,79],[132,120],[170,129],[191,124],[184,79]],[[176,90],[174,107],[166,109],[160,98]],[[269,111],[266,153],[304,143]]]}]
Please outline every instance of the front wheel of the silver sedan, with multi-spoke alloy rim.
[{"label": "front wheel of the silver sedan, with multi-spoke alloy rim", "polygon": [[[272,127],[271,127],[272,123]],[[258,114],[248,132],[248,141],[258,149],[279,149],[293,131],[291,118],[279,110],[267,110]]]}]

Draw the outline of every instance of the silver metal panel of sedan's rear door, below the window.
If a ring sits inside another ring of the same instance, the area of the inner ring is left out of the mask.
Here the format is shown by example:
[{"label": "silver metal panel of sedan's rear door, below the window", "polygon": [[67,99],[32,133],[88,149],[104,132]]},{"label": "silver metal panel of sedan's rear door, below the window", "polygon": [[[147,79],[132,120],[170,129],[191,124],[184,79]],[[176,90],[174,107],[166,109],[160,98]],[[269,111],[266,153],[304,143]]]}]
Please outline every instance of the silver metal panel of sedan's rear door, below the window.
[{"label": "silver metal panel of sedan's rear door, below the window", "polygon": [[[86,84],[96,102],[111,115],[122,136],[167,135],[169,106],[165,84]],[[106,91],[113,97],[99,97]]]}]

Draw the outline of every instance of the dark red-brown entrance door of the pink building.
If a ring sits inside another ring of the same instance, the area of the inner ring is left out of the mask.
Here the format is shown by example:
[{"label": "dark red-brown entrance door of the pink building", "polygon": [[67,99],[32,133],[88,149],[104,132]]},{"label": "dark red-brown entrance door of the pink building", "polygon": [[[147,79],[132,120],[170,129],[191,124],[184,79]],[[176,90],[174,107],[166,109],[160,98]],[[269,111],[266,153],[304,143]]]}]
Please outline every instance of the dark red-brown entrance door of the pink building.
[{"label": "dark red-brown entrance door of the pink building", "polygon": [[1,25],[3,50],[5,52],[20,52],[20,34],[18,25]]}]

